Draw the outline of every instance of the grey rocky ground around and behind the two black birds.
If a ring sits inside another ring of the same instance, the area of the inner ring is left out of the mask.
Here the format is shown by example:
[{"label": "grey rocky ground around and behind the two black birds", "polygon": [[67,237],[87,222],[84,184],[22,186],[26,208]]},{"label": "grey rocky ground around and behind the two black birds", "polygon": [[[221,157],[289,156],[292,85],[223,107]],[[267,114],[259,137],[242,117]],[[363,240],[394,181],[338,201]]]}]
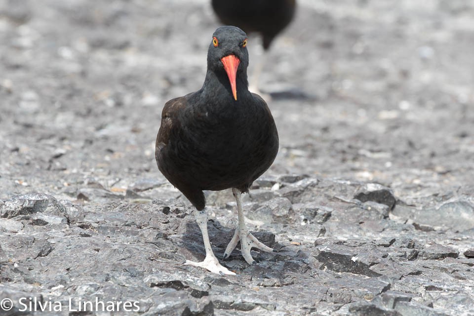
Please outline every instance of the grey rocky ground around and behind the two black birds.
[{"label": "grey rocky ground around and behind the two black birds", "polygon": [[[0,0],[0,314],[474,315],[474,1],[298,2],[260,79],[279,154],[245,196],[279,252],[226,277],[181,264],[201,235],[154,159],[208,2]],[[207,200],[221,257],[235,202]]]}]

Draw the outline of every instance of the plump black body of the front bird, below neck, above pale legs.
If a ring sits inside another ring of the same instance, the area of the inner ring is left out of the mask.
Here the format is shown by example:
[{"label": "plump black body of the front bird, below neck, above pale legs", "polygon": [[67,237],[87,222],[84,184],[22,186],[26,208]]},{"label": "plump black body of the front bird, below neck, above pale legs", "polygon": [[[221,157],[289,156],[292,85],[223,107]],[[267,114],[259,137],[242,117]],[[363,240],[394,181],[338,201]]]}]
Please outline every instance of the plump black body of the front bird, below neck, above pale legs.
[{"label": "plump black body of the front bird, below neck, above pale legs", "polygon": [[204,207],[202,190],[246,192],[274,161],[275,121],[262,98],[253,94],[251,101],[245,110],[233,111],[211,111],[212,105],[205,111],[193,94],[165,104],[156,143],[158,168],[197,209]]}]

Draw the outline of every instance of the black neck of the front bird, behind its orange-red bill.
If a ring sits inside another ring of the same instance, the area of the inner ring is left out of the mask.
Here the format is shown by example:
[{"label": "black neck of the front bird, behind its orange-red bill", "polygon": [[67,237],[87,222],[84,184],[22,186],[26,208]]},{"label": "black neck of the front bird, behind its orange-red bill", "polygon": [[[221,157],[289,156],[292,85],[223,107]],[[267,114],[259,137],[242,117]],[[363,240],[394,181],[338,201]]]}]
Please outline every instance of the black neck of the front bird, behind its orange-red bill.
[{"label": "black neck of the front bird, behind its orange-red bill", "polygon": [[[245,99],[250,96],[250,92],[248,91],[247,73],[245,71],[237,72],[236,86],[237,100]],[[216,99],[226,94],[233,98],[231,83],[226,72],[224,70],[222,70],[222,72],[215,72],[208,69],[204,84],[201,88],[201,93],[203,97],[210,99]]]}]

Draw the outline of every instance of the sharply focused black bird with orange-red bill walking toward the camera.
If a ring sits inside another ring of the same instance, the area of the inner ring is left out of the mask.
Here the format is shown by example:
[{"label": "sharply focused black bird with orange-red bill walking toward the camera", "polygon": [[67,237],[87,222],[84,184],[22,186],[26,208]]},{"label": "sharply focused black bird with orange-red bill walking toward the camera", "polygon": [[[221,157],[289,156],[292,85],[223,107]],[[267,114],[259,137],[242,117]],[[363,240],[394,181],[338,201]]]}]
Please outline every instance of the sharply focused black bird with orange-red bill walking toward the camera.
[{"label": "sharply focused black bird with orange-red bill walking toward the camera", "polygon": [[203,190],[232,188],[237,200],[238,227],[224,253],[240,240],[242,255],[254,263],[250,248],[271,252],[244,223],[241,194],[273,163],[278,151],[275,121],[265,101],[248,91],[247,35],[237,27],[218,28],[207,52],[202,87],[166,102],[156,143],[158,168],[196,207],[196,221],[206,257],[186,265],[217,274],[234,273],[219,264],[207,234]]}]

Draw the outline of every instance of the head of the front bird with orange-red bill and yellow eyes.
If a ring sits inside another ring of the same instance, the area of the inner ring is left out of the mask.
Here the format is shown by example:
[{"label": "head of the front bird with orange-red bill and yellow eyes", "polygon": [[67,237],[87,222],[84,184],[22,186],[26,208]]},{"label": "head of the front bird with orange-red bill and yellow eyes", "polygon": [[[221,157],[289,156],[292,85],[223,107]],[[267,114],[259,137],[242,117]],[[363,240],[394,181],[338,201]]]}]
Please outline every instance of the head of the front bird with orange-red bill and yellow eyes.
[{"label": "head of the front bird with orange-red bill and yellow eyes", "polygon": [[247,35],[235,26],[222,26],[212,35],[207,51],[207,68],[215,73],[225,71],[232,94],[237,100],[237,76],[247,79]]}]

